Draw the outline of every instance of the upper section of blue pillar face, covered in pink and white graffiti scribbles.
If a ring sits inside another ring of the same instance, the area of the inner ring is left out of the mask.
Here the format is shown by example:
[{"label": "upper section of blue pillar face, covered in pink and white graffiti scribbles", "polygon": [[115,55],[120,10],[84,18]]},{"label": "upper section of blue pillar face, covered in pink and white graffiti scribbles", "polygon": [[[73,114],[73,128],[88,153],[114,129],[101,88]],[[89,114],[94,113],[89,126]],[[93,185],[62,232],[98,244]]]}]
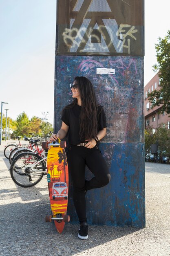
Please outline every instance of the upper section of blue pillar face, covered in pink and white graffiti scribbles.
[{"label": "upper section of blue pillar face, covered in pink and white graffiti scribbles", "polygon": [[[56,99],[60,101],[60,111],[72,102],[70,83],[74,77],[86,76],[93,83],[97,101],[106,112],[107,136],[104,142],[142,140],[140,57],[56,56],[56,59]],[[114,68],[115,74],[97,74],[97,68]],[[60,124],[60,117],[57,122]]]}]

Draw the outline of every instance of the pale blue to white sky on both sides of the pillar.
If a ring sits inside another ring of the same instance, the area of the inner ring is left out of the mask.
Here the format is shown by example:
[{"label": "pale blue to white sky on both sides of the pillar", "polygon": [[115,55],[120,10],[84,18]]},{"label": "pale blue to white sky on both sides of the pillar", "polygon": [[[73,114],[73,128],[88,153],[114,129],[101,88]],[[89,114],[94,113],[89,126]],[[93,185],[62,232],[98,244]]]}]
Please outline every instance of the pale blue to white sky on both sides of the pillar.
[{"label": "pale blue to white sky on both sides of the pillar", "polygon": [[[144,85],[156,73],[155,44],[170,29],[170,0],[145,0]],[[16,119],[47,115],[53,124],[56,0],[0,0],[0,103]]]}]

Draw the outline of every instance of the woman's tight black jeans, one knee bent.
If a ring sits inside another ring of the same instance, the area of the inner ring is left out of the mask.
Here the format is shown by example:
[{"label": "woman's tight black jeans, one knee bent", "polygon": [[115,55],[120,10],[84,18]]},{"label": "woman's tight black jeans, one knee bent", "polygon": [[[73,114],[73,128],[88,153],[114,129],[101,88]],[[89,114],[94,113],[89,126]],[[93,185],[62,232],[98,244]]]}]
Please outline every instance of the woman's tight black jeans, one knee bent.
[{"label": "woman's tight black jeans, one knee bent", "polygon": [[[73,201],[79,222],[86,222],[85,190],[96,189],[110,182],[108,166],[98,148],[71,145],[67,153],[68,170],[73,180]],[[94,177],[85,184],[85,166]]]}]

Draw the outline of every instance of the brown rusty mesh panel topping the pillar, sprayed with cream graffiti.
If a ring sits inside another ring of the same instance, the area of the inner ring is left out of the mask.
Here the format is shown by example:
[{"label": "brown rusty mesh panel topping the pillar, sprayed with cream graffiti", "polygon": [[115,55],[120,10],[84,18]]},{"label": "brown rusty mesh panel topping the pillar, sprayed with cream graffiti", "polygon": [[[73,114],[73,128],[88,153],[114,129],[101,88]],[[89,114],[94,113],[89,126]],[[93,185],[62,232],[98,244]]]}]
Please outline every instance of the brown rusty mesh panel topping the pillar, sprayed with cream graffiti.
[{"label": "brown rusty mesh panel topping the pillar, sprayed with cream graffiti", "polygon": [[144,56],[144,0],[57,0],[57,54]]}]

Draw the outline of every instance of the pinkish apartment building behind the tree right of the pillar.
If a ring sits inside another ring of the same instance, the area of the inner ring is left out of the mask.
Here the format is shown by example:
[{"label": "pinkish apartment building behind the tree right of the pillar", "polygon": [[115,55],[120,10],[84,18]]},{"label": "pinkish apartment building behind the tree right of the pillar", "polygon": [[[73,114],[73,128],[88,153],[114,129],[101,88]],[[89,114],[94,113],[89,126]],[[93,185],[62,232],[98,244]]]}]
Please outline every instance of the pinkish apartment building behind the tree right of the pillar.
[{"label": "pinkish apartment building behind the tree right of the pillar", "polygon": [[147,85],[144,88],[144,115],[145,115],[145,128],[147,126],[151,126],[153,129],[153,132],[155,132],[155,129],[159,127],[159,124],[163,123],[164,126],[168,129],[170,129],[170,117],[166,114],[166,112],[163,112],[163,114],[160,113],[161,105],[156,106],[151,109],[152,104],[148,101],[148,93],[152,92],[153,90],[160,90],[159,87],[160,81],[158,73],[147,83]]}]

